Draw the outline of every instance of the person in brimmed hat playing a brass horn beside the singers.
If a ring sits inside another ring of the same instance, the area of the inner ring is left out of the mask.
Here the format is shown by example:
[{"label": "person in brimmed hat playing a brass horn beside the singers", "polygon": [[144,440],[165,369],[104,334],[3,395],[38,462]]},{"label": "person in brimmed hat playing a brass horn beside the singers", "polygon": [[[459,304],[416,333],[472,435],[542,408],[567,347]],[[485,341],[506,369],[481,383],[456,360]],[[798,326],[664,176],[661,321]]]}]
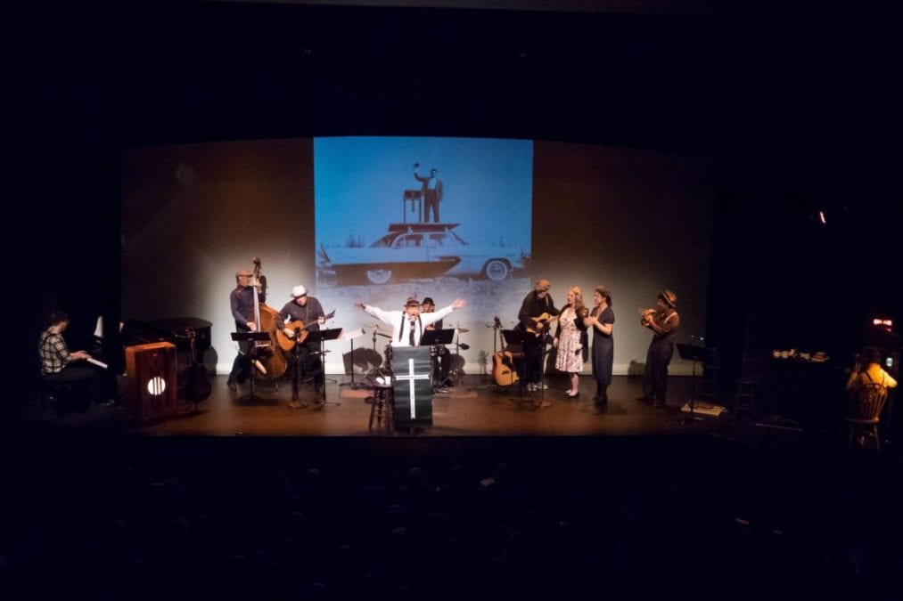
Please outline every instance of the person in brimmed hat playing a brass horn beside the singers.
[{"label": "person in brimmed hat playing a brass horn beside the singers", "polygon": [[653,331],[646,353],[646,371],[643,373],[643,400],[652,402],[655,407],[666,406],[668,365],[675,353],[674,343],[677,328],[680,328],[676,307],[677,295],[665,289],[658,293],[656,310],[643,311],[640,319],[644,327]]}]

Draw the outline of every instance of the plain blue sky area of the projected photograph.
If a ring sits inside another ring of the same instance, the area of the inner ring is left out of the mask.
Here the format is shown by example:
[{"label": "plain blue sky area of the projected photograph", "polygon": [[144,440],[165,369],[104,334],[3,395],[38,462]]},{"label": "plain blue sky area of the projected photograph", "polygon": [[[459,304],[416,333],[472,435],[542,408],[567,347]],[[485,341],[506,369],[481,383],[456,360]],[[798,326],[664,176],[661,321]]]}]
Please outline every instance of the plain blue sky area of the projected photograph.
[{"label": "plain blue sky area of the projected photograph", "polygon": [[[421,175],[438,171],[440,221],[459,224],[453,231],[463,241],[530,254],[532,141],[315,138],[313,158],[316,245],[333,260],[330,249],[366,247],[385,236],[390,223],[418,221],[414,204],[404,202],[405,190],[421,188],[415,162]],[[318,270],[318,280],[321,275]],[[393,281],[399,282],[397,274]]]}]

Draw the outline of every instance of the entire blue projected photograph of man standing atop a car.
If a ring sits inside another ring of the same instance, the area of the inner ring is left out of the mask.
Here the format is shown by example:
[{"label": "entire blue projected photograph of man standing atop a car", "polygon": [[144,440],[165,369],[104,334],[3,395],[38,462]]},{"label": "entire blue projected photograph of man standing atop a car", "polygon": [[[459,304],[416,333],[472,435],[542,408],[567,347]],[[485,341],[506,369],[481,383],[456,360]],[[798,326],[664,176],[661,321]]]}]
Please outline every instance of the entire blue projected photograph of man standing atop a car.
[{"label": "entire blue projected photograph of man standing atop a car", "polygon": [[317,282],[502,282],[530,260],[533,143],[316,138]]}]

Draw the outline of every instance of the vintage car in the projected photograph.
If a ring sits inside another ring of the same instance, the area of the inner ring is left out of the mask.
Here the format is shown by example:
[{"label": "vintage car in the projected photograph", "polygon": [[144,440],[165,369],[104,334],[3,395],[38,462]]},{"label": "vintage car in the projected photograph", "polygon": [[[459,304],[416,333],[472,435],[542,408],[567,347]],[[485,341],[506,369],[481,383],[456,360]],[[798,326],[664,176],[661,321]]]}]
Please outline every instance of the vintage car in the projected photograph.
[{"label": "vintage car in the projected photograph", "polygon": [[523,269],[526,254],[503,245],[471,245],[454,231],[455,223],[394,223],[369,246],[326,248],[319,271],[339,283],[401,282],[454,276],[500,281]]}]

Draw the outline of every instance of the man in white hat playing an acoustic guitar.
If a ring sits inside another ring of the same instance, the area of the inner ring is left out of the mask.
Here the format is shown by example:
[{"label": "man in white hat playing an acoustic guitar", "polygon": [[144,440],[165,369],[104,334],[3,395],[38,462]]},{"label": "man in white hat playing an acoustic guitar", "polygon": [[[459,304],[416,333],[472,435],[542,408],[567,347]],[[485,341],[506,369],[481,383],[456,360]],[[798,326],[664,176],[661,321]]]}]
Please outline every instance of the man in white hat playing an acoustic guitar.
[{"label": "man in white hat playing an acoustic guitar", "polygon": [[[292,300],[285,303],[279,315],[276,316],[276,328],[283,331],[286,337],[294,339],[295,336],[301,336],[304,332],[315,332],[320,329],[320,325],[326,321],[326,314],[323,307],[316,298],[307,294],[307,289],[303,285],[298,284],[292,289]],[[303,322],[303,330],[301,329]],[[298,331],[295,332],[295,328]],[[292,382],[297,382],[296,377],[305,374],[307,377],[313,378],[313,390],[316,393],[321,392],[323,385],[322,365],[317,356],[313,355],[316,348],[312,345],[302,343],[295,349],[298,356],[291,356],[288,362],[287,374]],[[297,366],[295,365],[297,362]],[[296,373],[299,371],[301,373]],[[303,405],[298,402],[298,390],[296,386],[292,387],[292,402],[289,407],[298,409]]]}]

